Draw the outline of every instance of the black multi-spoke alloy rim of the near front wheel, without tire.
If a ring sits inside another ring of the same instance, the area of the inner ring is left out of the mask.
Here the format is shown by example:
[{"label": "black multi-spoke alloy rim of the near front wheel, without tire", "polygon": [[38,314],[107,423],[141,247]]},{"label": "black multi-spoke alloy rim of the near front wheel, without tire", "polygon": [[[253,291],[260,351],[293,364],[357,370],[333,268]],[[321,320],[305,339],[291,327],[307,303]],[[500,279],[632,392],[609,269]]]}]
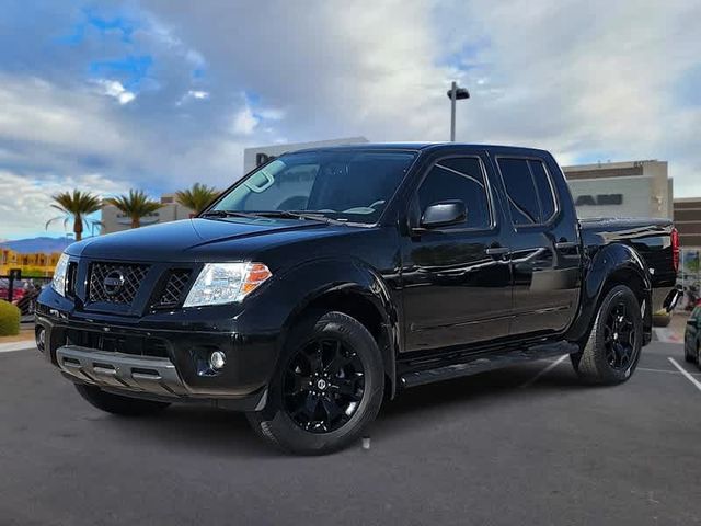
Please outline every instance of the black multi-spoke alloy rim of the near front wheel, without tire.
[{"label": "black multi-spoke alloy rim of the near front wheel, without tire", "polygon": [[283,381],[284,408],[302,430],[330,433],[346,424],[363,400],[365,370],[340,340],[315,339],[290,356]]}]

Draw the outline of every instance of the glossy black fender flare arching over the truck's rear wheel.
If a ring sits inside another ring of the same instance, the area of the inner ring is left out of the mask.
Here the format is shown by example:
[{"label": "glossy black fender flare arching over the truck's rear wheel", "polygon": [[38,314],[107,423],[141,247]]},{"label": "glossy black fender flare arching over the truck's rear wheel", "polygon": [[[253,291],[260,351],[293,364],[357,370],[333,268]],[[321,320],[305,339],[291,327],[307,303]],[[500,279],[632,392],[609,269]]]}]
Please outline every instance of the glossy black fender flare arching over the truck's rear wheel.
[{"label": "glossy black fender flare arching over the truck's rear wheel", "polygon": [[[588,338],[596,315],[608,290],[611,277],[617,273],[632,273],[643,284],[646,309],[652,309],[652,279],[650,271],[635,249],[622,243],[608,244],[594,256],[585,260],[585,272],[579,294],[579,311],[566,332],[566,340],[579,342]],[[625,285],[625,282],[617,279]]]}]

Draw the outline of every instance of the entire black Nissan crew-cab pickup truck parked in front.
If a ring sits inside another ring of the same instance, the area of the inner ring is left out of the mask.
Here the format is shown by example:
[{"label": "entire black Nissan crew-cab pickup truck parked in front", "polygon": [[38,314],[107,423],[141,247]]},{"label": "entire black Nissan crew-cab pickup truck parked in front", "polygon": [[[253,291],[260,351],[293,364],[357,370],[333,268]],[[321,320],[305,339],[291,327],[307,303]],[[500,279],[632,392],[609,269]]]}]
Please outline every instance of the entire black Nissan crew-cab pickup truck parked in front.
[{"label": "entire black Nissan crew-cab pickup truck parked in front", "polygon": [[413,386],[564,354],[625,381],[678,259],[668,220],[577,220],[547,151],[303,150],[196,218],[70,245],[36,339],[101,410],[204,402],[320,454]]}]

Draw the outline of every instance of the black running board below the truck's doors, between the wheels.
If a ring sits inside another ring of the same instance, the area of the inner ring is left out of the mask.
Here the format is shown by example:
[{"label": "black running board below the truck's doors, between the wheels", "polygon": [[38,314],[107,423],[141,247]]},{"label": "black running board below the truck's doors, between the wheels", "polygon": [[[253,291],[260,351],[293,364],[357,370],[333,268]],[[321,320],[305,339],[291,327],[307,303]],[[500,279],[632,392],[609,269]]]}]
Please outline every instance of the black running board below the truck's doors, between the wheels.
[{"label": "black running board below the truck's doors, between the wheels", "polygon": [[452,378],[476,375],[487,370],[501,369],[503,367],[521,364],[524,362],[562,356],[563,354],[573,354],[577,351],[579,351],[579,347],[576,344],[558,342],[535,345],[528,348],[510,350],[502,353],[494,352],[490,354],[480,354],[467,357],[464,362],[460,363],[452,363],[450,365],[444,365],[432,369],[404,373],[400,376],[401,386],[405,388],[423,386],[424,384],[433,384],[434,381],[450,380]]}]

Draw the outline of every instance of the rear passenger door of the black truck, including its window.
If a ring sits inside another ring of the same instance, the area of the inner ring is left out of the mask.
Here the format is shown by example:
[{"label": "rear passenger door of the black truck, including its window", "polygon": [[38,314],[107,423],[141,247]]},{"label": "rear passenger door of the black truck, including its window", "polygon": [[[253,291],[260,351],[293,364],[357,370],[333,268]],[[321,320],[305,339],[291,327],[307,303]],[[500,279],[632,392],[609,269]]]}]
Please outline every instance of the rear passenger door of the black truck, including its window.
[{"label": "rear passenger door of the black truck, including its window", "polygon": [[[548,157],[496,156],[512,222],[512,335],[565,330],[579,299],[579,232],[564,176]],[[556,170],[556,172],[555,172]]]}]

